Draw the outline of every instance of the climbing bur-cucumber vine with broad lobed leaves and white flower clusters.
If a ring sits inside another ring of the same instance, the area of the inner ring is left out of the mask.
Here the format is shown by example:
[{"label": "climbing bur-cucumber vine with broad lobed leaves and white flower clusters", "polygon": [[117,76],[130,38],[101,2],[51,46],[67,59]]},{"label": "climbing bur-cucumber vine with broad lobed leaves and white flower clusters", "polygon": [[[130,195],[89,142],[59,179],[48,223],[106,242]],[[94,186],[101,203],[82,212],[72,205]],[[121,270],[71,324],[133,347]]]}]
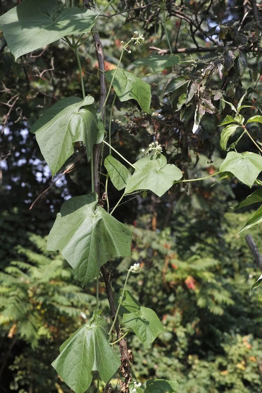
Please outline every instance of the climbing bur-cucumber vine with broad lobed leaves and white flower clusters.
[{"label": "climbing bur-cucumber vine with broad lobed leaves and white flower clusters", "polygon": [[[113,1],[111,0],[105,9]],[[106,384],[105,391],[110,391],[109,382],[113,375],[118,373],[121,378],[120,390],[122,392],[164,393],[168,391],[172,393],[178,389],[176,381],[148,380],[144,386],[140,382],[133,381],[132,378],[130,367],[133,354],[131,349],[127,347],[125,336],[132,330],[138,339],[148,347],[163,331],[161,321],[155,312],[142,306],[129,291],[125,290],[129,275],[138,272],[140,266],[135,264],[129,268],[123,290],[114,295],[111,277],[104,265],[110,259],[131,255],[131,230],[113,217],[115,209],[125,195],[135,191],[145,193],[150,190],[161,197],[174,183],[203,180],[203,178],[181,180],[183,173],[175,165],[167,163],[157,141],[151,143],[144,151],[144,157],[135,163],[130,163],[111,145],[111,118],[115,98],[110,112],[109,135],[105,132],[105,114],[112,88],[115,92],[114,97],[117,96],[120,101],[135,99],[144,112],[148,113],[150,110],[150,84],[120,67],[122,57],[131,52],[132,45],[142,44],[144,37],[135,31],[129,41],[121,41],[122,51],[116,68],[105,72],[103,48],[95,25],[96,19],[100,17],[101,13],[96,14],[92,11],[87,0],[84,0],[83,3],[84,8],[80,9],[68,7],[67,0],[65,5],[57,0],[24,0],[0,17],[0,28],[15,59],[55,40],[62,39],[74,50],[79,67],[83,97],[61,99],[46,110],[30,129],[35,134],[52,175],[57,173],[66,160],[72,156],[74,143],[77,141],[82,141],[85,144],[87,160],[91,163],[92,192],[89,195],[70,198],[63,204],[48,236],[47,248],[51,251],[59,250],[63,254],[75,270],[82,285],[96,280],[96,309],[93,310],[90,320],[61,345],[60,354],[52,365],[65,383],[76,393],[83,393],[89,388],[94,371],[98,372],[98,391],[100,379]],[[153,70],[152,73],[160,72],[179,62],[179,58],[172,54],[168,38],[165,5],[165,1],[162,1],[164,30],[171,54],[153,55],[137,59],[133,63],[134,66],[150,66]],[[99,105],[94,102],[92,96],[85,94],[78,53],[79,46],[90,35],[94,39],[100,71]],[[179,97],[180,107],[187,105],[195,94],[199,95],[199,85],[184,77],[178,77],[175,80],[172,79],[165,90],[165,93],[173,92],[177,88],[175,86],[181,87],[184,84],[187,84],[188,87],[186,94]],[[215,99],[220,98],[221,95],[218,94]],[[226,125],[221,133],[222,149],[226,149],[229,137],[238,127],[242,127],[243,132],[236,142],[229,146],[229,149],[234,149],[234,151],[227,153],[218,174],[220,174],[220,179],[234,175],[251,187],[254,182],[260,184],[256,178],[262,170],[262,157],[260,154],[252,152],[238,153],[236,145],[240,138],[247,134],[259,152],[262,152],[246,127],[252,121],[262,123],[262,116],[253,116],[245,122],[243,116],[240,115],[240,110],[244,107],[241,105],[243,99],[244,97],[240,100],[237,108],[229,103],[236,115],[234,118],[227,116],[221,123],[221,126]],[[205,105],[209,106],[205,107]],[[97,110],[98,106],[99,110]],[[209,101],[206,99],[203,98],[201,102],[199,101],[193,132],[197,132],[205,111],[214,113],[212,112],[214,110],[216,108],[213,105],[210,107]],[[108,145],[110,149],[109,156],[104,160],[107,173],[104,174],[106,185],[103,195],[100,195],[98,184],[101,144]],[[107,195],[109,178],[117,190],[124,190],[116,205],[111,206],[111,212]],[[256,194],[253,193],[248,198],[246,202],[242,202],[242,206],[257,202],[257,200],[262,201],[262,193],[258,190]],[[105,202],[106,209],[104,208]],[[262,220],[262,211],[260,210],[261,208],[241,230]],[[100,274],[103,275],[109,299],[111,326],[109,326],[108,320],[103,318],[103,310],[99,309]],[[128,328],[125,334],[122,334],[119,316],[121,316],[122,324]],[[119,345],[121,358],[114,351],[115,345]]]}]

